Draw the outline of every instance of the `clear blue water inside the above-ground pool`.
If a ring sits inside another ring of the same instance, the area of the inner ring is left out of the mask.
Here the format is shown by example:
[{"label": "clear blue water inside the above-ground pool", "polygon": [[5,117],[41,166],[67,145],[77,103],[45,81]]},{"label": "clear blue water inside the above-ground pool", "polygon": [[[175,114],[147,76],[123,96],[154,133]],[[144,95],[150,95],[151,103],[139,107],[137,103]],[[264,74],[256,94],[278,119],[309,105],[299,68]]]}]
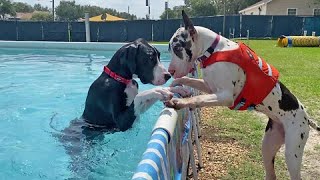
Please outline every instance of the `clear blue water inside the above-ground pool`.
[{"label": "clear blue water inside the above-ground pool", "polygon": [[[0,179],[130,179],[162,110],[156,103],[133,128],[64,144],[90,84],[112,51],[0,49]],[[168,60],[162,54],[162,61]],[[164,63],[165,66],[168,62]],[[168,85],[168,84],[166,84]],[[142,85],[140,90],[152,88]],[[68,154],[66,147],[73,146]],[[76,147],[74,147],[76,146]]]}]

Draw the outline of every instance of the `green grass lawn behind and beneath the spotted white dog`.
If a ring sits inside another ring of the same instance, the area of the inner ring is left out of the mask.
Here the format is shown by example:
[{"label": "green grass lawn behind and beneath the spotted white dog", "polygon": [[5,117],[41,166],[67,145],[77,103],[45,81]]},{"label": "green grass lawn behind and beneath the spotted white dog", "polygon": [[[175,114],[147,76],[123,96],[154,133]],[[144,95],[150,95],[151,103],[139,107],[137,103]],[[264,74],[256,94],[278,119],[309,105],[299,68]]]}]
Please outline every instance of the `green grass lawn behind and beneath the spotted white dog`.
[{"label": "green grass lawn behind and beneath the spotted white dog", "polygon": [[[274,40],[243,41],[260,57],[280,71],[282,81],[306,106],[311,117],[320,122],[320,48],[279,48]],[[265,122],[253,112],[236,112],[227,108],[219,110],[219,119],[207,120],[210,126],[227,131],[218,136],[235,138],[249,150],[239,168],[230,164],[228,175],[223,179],[263,179],[264,168],[261,156],[261,140]],[[278,153],[279,154],[279,153]],[[288,179],[284,158],[277,157],[278,179]]]}]

